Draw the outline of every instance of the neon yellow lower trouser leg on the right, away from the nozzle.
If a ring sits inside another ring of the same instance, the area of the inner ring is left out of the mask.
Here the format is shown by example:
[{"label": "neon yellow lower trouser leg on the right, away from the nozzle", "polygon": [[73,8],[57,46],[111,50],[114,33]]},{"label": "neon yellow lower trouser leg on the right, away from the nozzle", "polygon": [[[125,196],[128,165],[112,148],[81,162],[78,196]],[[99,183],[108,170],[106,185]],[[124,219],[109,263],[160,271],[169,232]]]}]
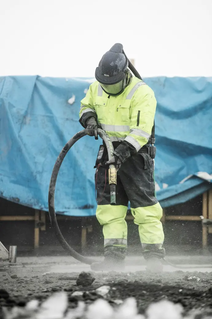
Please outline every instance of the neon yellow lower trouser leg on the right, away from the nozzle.
[{"label": "neon yellow lower trouser leg on the right, away from the nozzle", "polygon": [[160,221],[163,211],[159,203],[131,208],[134,223],[138,225],[140,241],[143,244],[162,244],[164,241],[163,226]]}]

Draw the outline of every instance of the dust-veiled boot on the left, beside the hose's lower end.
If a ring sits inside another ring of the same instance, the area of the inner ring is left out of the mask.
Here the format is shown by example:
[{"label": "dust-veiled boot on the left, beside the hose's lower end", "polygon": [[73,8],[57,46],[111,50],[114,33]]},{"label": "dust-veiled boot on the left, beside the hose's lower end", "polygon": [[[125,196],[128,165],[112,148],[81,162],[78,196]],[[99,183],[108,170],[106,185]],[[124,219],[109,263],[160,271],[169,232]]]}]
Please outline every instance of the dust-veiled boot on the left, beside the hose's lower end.
[{"label": "dust-veiled boot on the left, beside the hose's lower end", "polygon": [[105,247],[105,259],[92,263],[93,271],[124,271],[126,249],[118,246]]}]

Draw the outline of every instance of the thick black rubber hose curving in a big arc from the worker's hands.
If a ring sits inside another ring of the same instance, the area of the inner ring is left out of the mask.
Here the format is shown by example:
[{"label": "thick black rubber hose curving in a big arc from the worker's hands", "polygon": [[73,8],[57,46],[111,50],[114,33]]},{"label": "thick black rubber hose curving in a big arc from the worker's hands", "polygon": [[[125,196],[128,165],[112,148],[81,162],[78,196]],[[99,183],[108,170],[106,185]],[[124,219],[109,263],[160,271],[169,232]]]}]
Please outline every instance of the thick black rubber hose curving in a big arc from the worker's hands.
[{"label": "thick black rubber hose curving in a big arc from the worker's hands", "polygon": [[[58,173],[59,173],[59,169],[60,166],[65,158],[65,155],[67,154],[67,152],[70,150],[70,148],[83,136],[85,136],[86,130],[82,130],[80,132],[78,132],[77,134],[75,134],[69,141],[68,143],[65,144],[64,148],[62,149],[62,151],[60,152],[56,163],[54,165],[52,174],[51,174],[51,180],[50,180],[50,184],[49,184],[49,197],[48,197],[48,202],[49,202],[49,217],[50,217],[50,221],[51,221],[51,225],[55,231],[55,234],[57,236],[57,239],[59,241],[59,243],[61,244],[61,246],[67,250],[70,255],[72,257],[74,257],[75,259],[79,260],[81,263],[87,263],[87,264],[92,264],[93,262],[95,262],[95,260],[82,256],[79,253],[77,253],[71,246],[69,246],[69,244],[65,241],[65,238],[63,237],[63,235],[61,234],[61,231],[59,229],[58,226],[58,222],[57,222],[57,218],[56,218],[56,213],[55,213],[55,206],[54,206],[54,195],[55,195],[55,187],[56,187],[56,182],[57,182],[57,177],[58,177]],[[108,152],[108,158],[109,160],[111,159],[111,157],[113,156],[113,144],[110,140],[110,138],[108,137],[108,135],[106,134],[105,131],[98,129],[98,134],[99,136],[104,140],[106,147],[107,147],[107,152]],[[112,184],[113,185],[113,184]]]}]

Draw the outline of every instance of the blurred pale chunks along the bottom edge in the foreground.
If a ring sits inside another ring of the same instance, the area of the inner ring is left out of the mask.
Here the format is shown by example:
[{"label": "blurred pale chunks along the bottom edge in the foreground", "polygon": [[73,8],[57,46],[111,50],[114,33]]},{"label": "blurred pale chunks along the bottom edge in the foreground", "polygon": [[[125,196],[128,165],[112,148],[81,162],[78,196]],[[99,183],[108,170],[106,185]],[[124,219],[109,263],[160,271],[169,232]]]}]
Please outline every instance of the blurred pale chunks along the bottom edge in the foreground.
[{"label": "blurred pale chunks along the bottom edge in the foreground", "polygon": [[65,292],[55,293],[39,306],[38,300],[32,300],[24,308],[3,309],[3,319],[209,319],[211,311],[191,311],[184,316],[180,304],[168,300],[154,302],[147,307],[144,315],[139,314],[137,301],[130,297],[112,307],[104,299],[97,299],[86,305],[79,301],[76,308],[68,308],[68,296]]}]

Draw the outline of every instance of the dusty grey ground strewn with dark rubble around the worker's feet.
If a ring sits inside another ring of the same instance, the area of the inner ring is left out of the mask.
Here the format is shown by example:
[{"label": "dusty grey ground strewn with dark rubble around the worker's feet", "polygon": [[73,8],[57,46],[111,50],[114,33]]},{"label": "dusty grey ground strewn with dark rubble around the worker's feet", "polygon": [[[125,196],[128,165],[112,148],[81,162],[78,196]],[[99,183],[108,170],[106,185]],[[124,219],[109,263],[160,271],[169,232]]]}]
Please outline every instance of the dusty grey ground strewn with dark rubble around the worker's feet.
[{"label": "dusty grey ground strewn with dark rubble around the worker's feet", "polygon": [[86,286],[78,278],[80,272],[91,271],[90,266],[72,257],[19,257],[14,265],[0,262],[0,307],[24,306],[34,298],[42,301],[56,291],[66,291],[73,308],[79,300],[92,303],[100,297],[97,288],[110,286],[106,300],[115,305],[117,300],[133,296],[140,313],[162,299],[181,303],[185,312],[192,308],[212,310],[212,256],[167,259],[187,268],[165,265],[163,273],[148,273],[142,257],[128,257],[125,272],[92,272],[90,277],[95,280]]}]

